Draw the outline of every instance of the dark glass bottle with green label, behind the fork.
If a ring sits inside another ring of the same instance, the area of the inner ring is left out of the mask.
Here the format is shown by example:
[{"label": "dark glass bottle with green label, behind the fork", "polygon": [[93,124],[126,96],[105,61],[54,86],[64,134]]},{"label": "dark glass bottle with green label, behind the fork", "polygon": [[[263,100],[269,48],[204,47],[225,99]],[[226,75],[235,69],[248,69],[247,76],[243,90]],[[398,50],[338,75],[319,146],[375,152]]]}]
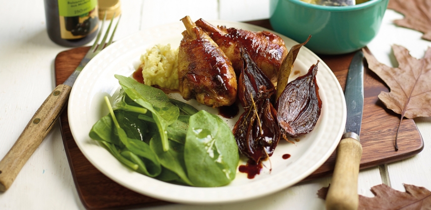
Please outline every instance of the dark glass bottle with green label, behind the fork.
[{"label": "dark glass bottle with green label, behind the fork", "polygon": [[97,0],[44,0],[50,39],[62,46],[91,42],[99,29]]}]

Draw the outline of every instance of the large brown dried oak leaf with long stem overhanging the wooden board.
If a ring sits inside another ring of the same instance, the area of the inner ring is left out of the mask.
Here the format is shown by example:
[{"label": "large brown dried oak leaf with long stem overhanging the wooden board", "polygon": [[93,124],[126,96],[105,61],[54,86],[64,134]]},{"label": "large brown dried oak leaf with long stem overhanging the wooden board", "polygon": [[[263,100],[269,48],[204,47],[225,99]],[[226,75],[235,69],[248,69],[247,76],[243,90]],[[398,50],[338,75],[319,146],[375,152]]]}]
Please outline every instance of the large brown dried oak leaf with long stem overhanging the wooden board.
[{"label": "large brown dried oak leaf with long stem overhanging the wooden board", "polygon": [[368,67],[383,80],[390,92],[381,91],[378,98],[383,104],[401,115],[395,136],[395,151],[398,151],[397,137],[404,117],[431,117],[431,48],[428,47],[422,59],[416,59],[399,45],[392,50],[398,67],[392,68],[377,61],[368,47],[362,49]]}]

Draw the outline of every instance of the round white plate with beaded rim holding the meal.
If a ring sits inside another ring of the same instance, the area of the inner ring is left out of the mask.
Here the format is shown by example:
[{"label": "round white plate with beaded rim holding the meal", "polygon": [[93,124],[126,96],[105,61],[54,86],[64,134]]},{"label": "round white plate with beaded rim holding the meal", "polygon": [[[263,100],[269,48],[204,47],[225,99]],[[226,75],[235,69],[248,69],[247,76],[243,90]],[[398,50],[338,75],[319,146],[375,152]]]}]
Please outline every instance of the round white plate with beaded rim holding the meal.
[{"label": "round white plate with beaded rim holding the meal", "polygon": [[[262,27],[228,21],[210,21],[214,25],[225,25],[250,31],[267,30]],[[314,130],[302,136],[295,145],[280,140],[270,158],[272,171],[263,168],[261,174],[248,179],[247,174],[237,172],[229,185],[215,188],[199,188],[170,184],[134,172],[120,164],[105,148],[92,140],[88,133],[91,127],[108,114],[103,97],[112,98],[119,89],[114,74],[130,76],[139,65],[141,54],[155,44],[170,43],[177,47],[182,39],[184,26],[181,22],[146,29],[123,40],[114,42],[93,58],[73,85],[68,104],[69,125],[73,137],[84,156],[102,173],[115,182],[138,193],[176,203],[216,204],[254,199],[285,189],[319,168],[336,148],[346,122],[346,105],[343,91],[337,79],[325,63],[306,47],[302,47],[296,59],[293,73],[306,74],[317,60],[319,71],[317,83],[323,101],[322,114]],[[268,31],[268,30],[267,30]],[[278,34],[279,35],[279,34]],[[288,49],[297,42],[283,38]],[[312,38],[313,39],[313,38]],[[306,37],[304,37],[304,41]],[[172,96],[171,96],[172,97]],[[189,103],[196,105],[191,100]],[[216,110],[203,105],[197,109]],[[233,127],[238,117],[225,119]],[[283,154],[290,154],[283,159]],[[241,160],[244,161],[244,160]],[[244,164],[241,162],[241,164]],[[264,162],[269,167],[269,162]]]}]

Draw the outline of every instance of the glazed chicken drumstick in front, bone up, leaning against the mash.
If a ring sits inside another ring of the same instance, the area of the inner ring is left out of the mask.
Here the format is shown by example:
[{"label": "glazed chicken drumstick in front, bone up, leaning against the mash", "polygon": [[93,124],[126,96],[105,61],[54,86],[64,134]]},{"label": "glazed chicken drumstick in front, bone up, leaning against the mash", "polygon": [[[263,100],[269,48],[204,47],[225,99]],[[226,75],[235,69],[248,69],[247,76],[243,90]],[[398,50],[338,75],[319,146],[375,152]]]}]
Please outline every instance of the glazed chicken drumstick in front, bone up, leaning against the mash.
[{"label": "glazed chicken drumstick in front, bone up, leaning against the mash", "polygon": [[197,27],[189,16],[178,52],[179,90],[184,99],[195,98],[208,106],[228,106],[235,102],[237,82],[229,58]]}]

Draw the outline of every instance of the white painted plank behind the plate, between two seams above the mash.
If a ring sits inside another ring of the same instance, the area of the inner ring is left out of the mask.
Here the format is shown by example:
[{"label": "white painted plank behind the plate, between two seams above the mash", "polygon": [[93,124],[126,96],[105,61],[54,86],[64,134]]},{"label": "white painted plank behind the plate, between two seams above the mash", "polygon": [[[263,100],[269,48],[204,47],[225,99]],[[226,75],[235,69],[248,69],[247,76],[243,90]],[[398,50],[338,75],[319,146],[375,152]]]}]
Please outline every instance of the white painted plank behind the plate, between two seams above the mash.
[{"label": "white painted plank behind the plate, between two seams above the mash", "polygon": [[141,30],[178,22],[185,16],[193,21],[199,18],[218,19],[217,0],[144,0]]}]

